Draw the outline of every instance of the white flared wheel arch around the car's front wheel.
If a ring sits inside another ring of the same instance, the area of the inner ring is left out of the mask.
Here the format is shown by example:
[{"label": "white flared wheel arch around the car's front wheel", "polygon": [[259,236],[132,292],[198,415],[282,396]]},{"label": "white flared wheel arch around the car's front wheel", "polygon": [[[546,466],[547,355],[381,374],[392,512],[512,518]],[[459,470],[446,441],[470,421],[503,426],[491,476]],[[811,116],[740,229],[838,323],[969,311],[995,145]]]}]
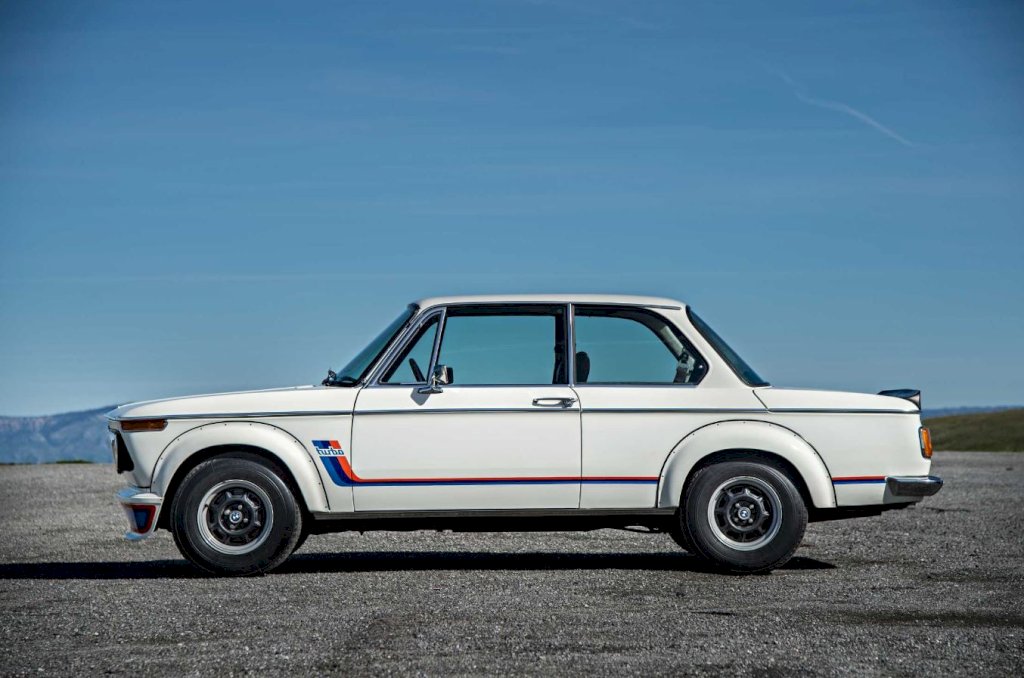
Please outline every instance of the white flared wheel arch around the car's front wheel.
[{"label": "white flared wheel arch around the car's front wheel", "polygon": [[177,470],[194,454],[221,446],[248,446],[270,453],[292,472],[310,511],[327,511],[327,494],[316,466],[287,431],[260,422],[225,421],[188,429],[164,449],[153,470],[153,492],[166,496]]}]

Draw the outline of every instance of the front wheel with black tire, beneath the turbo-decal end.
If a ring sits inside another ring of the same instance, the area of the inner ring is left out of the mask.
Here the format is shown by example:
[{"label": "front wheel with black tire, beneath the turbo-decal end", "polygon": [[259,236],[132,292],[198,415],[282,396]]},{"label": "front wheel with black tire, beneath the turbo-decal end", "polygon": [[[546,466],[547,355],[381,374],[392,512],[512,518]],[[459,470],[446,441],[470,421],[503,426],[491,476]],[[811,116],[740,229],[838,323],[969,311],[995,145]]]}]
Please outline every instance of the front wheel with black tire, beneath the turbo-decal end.
[{"label": "front wheel with black tire, beneath the turbo-decal end", "polygon": [[184,477],[171,502],[178,550],[215,575],[266,573],[302,535],[302,509],[281,471],[255,455],[215,457]]}]

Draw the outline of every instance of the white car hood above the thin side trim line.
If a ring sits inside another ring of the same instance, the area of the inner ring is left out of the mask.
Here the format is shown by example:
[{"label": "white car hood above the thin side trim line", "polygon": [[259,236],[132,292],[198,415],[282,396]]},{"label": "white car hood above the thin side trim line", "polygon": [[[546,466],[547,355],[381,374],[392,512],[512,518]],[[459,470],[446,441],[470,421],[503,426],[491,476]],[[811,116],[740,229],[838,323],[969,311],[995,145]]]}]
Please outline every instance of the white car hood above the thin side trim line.
[{"label": "white car hood above the thin side trim line", "polygon": [[111,419],[137,417],[214,417],[241,415],[298,415],[351,411],[357,388],[292,386],[256,391],[211,393],[129,402],[106,414]]}]

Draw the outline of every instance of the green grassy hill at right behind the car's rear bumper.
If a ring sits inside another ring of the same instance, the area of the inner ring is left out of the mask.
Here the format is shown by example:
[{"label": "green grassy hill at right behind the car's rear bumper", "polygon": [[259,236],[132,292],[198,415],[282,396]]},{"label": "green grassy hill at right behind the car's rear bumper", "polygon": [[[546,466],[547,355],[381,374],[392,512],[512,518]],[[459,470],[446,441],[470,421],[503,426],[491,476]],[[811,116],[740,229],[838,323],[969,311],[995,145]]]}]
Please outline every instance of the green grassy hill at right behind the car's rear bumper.
[{"label": "green grassy hill at right behind the car's rear bumper", "polygon": [[925,420],[936,450],[1024,452],[1024,408]]}]

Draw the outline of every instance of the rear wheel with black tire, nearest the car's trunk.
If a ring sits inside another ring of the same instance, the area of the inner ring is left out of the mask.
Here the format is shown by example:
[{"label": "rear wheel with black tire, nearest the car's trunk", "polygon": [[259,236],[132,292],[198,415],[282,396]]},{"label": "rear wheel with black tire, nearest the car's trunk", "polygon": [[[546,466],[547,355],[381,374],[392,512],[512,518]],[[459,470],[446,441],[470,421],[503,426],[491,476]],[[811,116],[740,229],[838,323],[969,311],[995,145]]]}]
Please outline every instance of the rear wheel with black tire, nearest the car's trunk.
[{"label": "rear wheel with black tire, nearest the car's trunk", "polygon": [[733,573],[785,564],[807,527],[807,506],[793,480],[759,462],[706,466],[684,491],[681,505],[680,529],[690,551]]}]

